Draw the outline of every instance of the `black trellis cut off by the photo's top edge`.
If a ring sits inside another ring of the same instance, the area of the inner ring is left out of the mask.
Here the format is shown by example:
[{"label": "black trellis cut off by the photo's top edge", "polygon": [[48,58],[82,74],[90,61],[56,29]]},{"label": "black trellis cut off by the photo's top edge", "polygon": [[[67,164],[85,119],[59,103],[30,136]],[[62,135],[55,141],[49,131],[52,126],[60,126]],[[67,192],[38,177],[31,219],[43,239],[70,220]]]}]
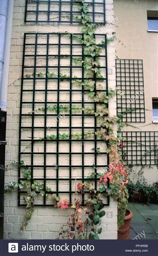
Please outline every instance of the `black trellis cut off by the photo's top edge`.
[{"label": "black trellis cut off by the photo's top edge", "polygon": [[[80,23],[78,1],[64,0],[26,0],[25,22]],[[41,7],[42,5],[42,7]],[[83,6],[89,6],[89,17],[93,24],[105,24],[105,0],[85,0]],[[98,11],[99,10],[99,11]]]}]

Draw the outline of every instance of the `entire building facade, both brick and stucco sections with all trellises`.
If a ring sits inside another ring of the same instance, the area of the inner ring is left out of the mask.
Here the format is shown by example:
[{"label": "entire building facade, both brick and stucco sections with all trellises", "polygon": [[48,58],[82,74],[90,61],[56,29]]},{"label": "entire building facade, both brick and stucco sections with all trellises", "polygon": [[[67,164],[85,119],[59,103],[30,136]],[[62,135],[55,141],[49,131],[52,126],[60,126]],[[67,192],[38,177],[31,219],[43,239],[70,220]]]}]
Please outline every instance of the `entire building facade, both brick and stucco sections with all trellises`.
[{"label": "entire building facade, both brick and stucco sections with all trellises", "polygon": [[[87,138],[87,141],[83,137],[80,141],[71,140],[71,145],[66,141],[72,139],[70,137],[64,137],[62,142],[57,143],[43,140],[53,134],[58,141],[59,133],[61,137],[63,133],[65,136],[83,133],[83,130],[91,131],[97,124],[94,116],[85,114],[83,117],[81,109],[74,115],[62,107],[62,110],[59,109],[58,102],[62,102],[63,106],[82,104],[85,107],[89,100],[78,87],[77,93],[73,91],[73,84],[69,82],[69,78],[75,75],[84,78],[83,69],[80,65],[74,68],[71,58],[73,55],[82,58],[84,49],[73,40],[71,34],[82,34],[81,24],[73,20],[73,11],[77,11],[77,8],[75,4],[62,2],[62,5],[49,5],[47,0],[14,0],[7,93],[5,183],[18,182],[23,178],[22,166],[18,168],[16,163],[24,161],[36,181],[44,183],[45,188],[60,192],[61,198],[70,200],[69,192],[75,190],[75,179],[85,178],[91,172],[94,161],[97,161],[95,165],[101,171],[108,166],[108,159],[105,155],[98,155],[94,160],[91,149],[103,150],[105,147],[104,142],[94,143],[95,137],[92,140]],[[91,9],[93,23],[100,23],[96,39],[103,40],[105,35],[107,39],[117,39],[108,41],[102,53],[105,55],[102,65],[107,69],[107,72],[102,72],[107,78],[108,89],[117,86],[124,94],[120,96],[118,93],[117,99],[109,100],[109,114],[116,116],[118,112],[125,124],[120,153],[129,171],[130,168],[134,170],[130,171],[131,180],[136,182],[139,179],[143,166],[144,178],[153,184],[157,181],[158,138],[157,1],[97,2],[102,5],[94,6],[93,2]],[[54,109],[57,106],[57,114],[48,108],[52,105]],[[86,154],[77,154],[79,152]],[[57,178],[58,182],[55,180]],[[25,196],[23,189],[19,193],[15,189],[6,194],[4,238],[57,238],[62,224],[67,222],[69,209],[61,211],[52,207],[49,198],[42,195],[37,196],[37,207],[25,231],[19,233],[26,214]],[[117,203],[111,198],[109,200],[105,201],[106,214],[102,218],[100,239],[117,239]]]}]

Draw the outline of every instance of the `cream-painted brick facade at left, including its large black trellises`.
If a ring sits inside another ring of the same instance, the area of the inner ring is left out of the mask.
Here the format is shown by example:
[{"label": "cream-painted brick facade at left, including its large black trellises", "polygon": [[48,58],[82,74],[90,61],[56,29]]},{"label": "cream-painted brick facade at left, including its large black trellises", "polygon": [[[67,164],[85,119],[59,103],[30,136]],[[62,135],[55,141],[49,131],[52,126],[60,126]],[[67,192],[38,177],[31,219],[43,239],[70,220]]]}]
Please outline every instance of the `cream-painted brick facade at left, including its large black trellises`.
[{"label": "cream-painted brick facade at left, including its large black trellises", "polygon": [[[26,2],[27,6],[25,0],[14,1],[7,94],[6,164],[8,168],[5,171],[5,183],[18,182],[18,177],[19,180],[23,178],[22,168],[19,167],[18,170],[13,163],[13,161],[18,161],[18,154],[20,153],[19,161],[24,161],[29,166],[37,181],[44,182],[44,186],[51,188],[53,191],[59,191],[61,198],[66,197],[70,200],[71,191],[75,190],[75,178],[86,178],[88,173],[92,171],[91,166],[96,160],[94,160],[94,155],[91,153],[93,150],[91,149],[104,149],[104,142],[98,145],[98,142],[94,143],[96,138],[92,137],[92,140],[84,141],[82,137],[82,140],[79,141],[72,140],[71,149],[66,140],[59,141],[57,144],[49,140],[45,143],[42,138],[51,136],[52,133],[54,136],[63,133],[66,135],[68,133],[82,133],[83,127],[84,131],[90,131],[89,127],[96,126],[96,121],[91,114],[85,114],[83,117],[81,111],[72,113],[70,119],[69,111],[62,110],[57,115],[50,109],[45,113],[42,108],[46,109],[46,106],[58,105],[59,101],[64,106],[67,104],[80,106],[79,104],[82,103],[82,107],[86,106],[88,102],[88,97],[83,96],[80,88],[75,92],[75,88],[71,84],[72,91],[70,91],[70,81],[65,79],[66,77],[74,77],[76,74],[78,77],[84,77],[83,69],[81,67],[74,69],[72,59],[67,58],[67,55],[82,57],[83,47],[76,45],[77,41],[69,34],[81,34],[81,25],[70,23],[69,20],[72,17],[71,10],[77,11],[75,4],[72,6],[72,4],[64,4],[66,1],[62,1],[60,5],[53,3],[48,7],[47,1],[43,1],[43,3],[37,3],[38,1]],[[100,2],[104,3],[104,1]],[[49,22],[47,22],[48,8],[50,11],[56,11],[50,13]],[[93,12],[93,10],[91,11]],[[104,24],[105,13],[106,24],[110,23],[113,19],[113,1],[107,0],[106,4],[95,5],[95,12],[101,14],[95,14],[95,17],[92,17],[94,23]],[[71,17],[67,18],[66,15]],[[56,22],[52,22],[54,19]],[[68,22],[60,22],[64,20]],[[96,35],[98,42],[105,40],[105,35],[108,38],[112,37],[114,32],[113,26],[107,26],[104,28],[104,32],[101,32],[101,28],[100,25],[96,30],[96,34],[99,34]],[[106,51],[107,54],[105,49],[102,54],[107,57],[107,60],[102,59],[102,65],[108,66],[109,70],[114,70],[114,41],[108,43]],[[56,59],[53,58],[54,55],[57,56]],[[65,58],[62,58],[63,55]],[[50,80],[45,78],[48,73],[53,73],[53,75],[50,75]],[[58,78],[60,77],[60,80],[55,79],[55,74],[58,75]],[[64,77],[64,75],[66,76]],[[106,71],[103,70],[103,77],[105,75]],[[115,88],[115,73],[107,78],[107,85],[108,88]],[[93,104],[89,106],[91,107]],[[116,115],[116,98],[109,102],[109,109],[111,115]],[[36,110],[38,111],[36,112]],[[60,127],[60,130],[58,129],[56,134],[57,126]],[[83,154],[80,154],[80,152],[83,152],[83,147],[84,159]],[[56,152],[59,154],[56,154]],[[71,154],[69,154],[70,152]],[[99,165],[100,170],[108,166],[105,155],[98,155],[95,165]],[[60,180],[54,182],[53,179],[56,178]],[[26,230],[21,234],[19,233],[26,213],[26,208],[23,206],[25,205],[23,200],[25,195],[25,193],[19,193],[18,195],[17,189],[15,189],[14,192],[7,193],[5,196],[5,239],[57,238],[62,224],[68,220],[70,211],[69,209],[61,211],[61,209],[52,207],[52,202],[46,196],[42,197],[39,194],[36,198],[38,206],[35,207]],[[72,198],[73,196],[72,194]],[[103,217],[103,231],[100,239],[117,239],[117,203],[110,198],[110,203],[105,201],[105,204],[106,215]],[[47,205],[49,206],[47,207]]]}]

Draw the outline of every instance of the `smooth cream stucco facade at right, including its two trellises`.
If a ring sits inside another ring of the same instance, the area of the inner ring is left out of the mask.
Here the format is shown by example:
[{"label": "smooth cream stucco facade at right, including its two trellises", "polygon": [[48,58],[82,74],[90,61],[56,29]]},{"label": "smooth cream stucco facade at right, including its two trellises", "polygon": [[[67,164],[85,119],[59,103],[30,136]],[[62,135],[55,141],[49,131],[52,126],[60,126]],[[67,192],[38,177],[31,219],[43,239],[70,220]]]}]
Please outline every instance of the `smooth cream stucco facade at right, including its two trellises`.
[{"label": "smooth cream stucco facade at right, including its two trellises", "polygon": [[129,141],[128,145],[124,143],[125,164],[135,165],[129,175],[132,181],[141,180],[142,173],[152,185],[158,179],[158,3],[116,0],[115,16],[115,32],[121,41],[115,42],[115,48],[122,59],[116,60],[116,83],[124,93],[122,101],[118,95],[117,109],[128,109],[123,117],[128,123],[123,129],[124,140],[128,137]]}]

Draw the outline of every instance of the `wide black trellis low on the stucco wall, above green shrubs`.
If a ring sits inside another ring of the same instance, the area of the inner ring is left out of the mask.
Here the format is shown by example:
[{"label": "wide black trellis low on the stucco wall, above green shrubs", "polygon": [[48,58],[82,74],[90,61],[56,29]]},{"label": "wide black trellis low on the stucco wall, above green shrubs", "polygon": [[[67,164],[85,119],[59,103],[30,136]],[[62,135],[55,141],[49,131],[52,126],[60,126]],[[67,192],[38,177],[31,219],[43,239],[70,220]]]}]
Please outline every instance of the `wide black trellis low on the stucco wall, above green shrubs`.
[{"label": "wide black trellis low on the stucco wall, above green shrubs", "polygon": [[157,165],[158,132],[122,132],[124,165]]}]

